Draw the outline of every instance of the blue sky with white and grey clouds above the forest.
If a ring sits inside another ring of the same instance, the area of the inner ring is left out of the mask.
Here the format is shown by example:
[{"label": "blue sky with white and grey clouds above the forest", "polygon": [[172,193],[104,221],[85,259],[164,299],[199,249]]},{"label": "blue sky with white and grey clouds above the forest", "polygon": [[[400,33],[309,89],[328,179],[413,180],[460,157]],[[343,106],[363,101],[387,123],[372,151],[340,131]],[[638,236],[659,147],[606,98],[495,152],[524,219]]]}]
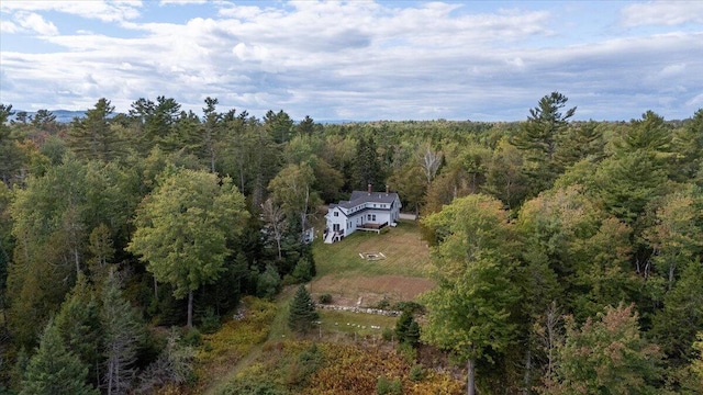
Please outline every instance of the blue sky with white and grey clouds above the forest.
[{"label": "blue sky with white and grey clouds above the forest", "polygon": [[140,98],[293,120],[576,120],[703,108],[703,1],[0,2],[0,102]]}]

